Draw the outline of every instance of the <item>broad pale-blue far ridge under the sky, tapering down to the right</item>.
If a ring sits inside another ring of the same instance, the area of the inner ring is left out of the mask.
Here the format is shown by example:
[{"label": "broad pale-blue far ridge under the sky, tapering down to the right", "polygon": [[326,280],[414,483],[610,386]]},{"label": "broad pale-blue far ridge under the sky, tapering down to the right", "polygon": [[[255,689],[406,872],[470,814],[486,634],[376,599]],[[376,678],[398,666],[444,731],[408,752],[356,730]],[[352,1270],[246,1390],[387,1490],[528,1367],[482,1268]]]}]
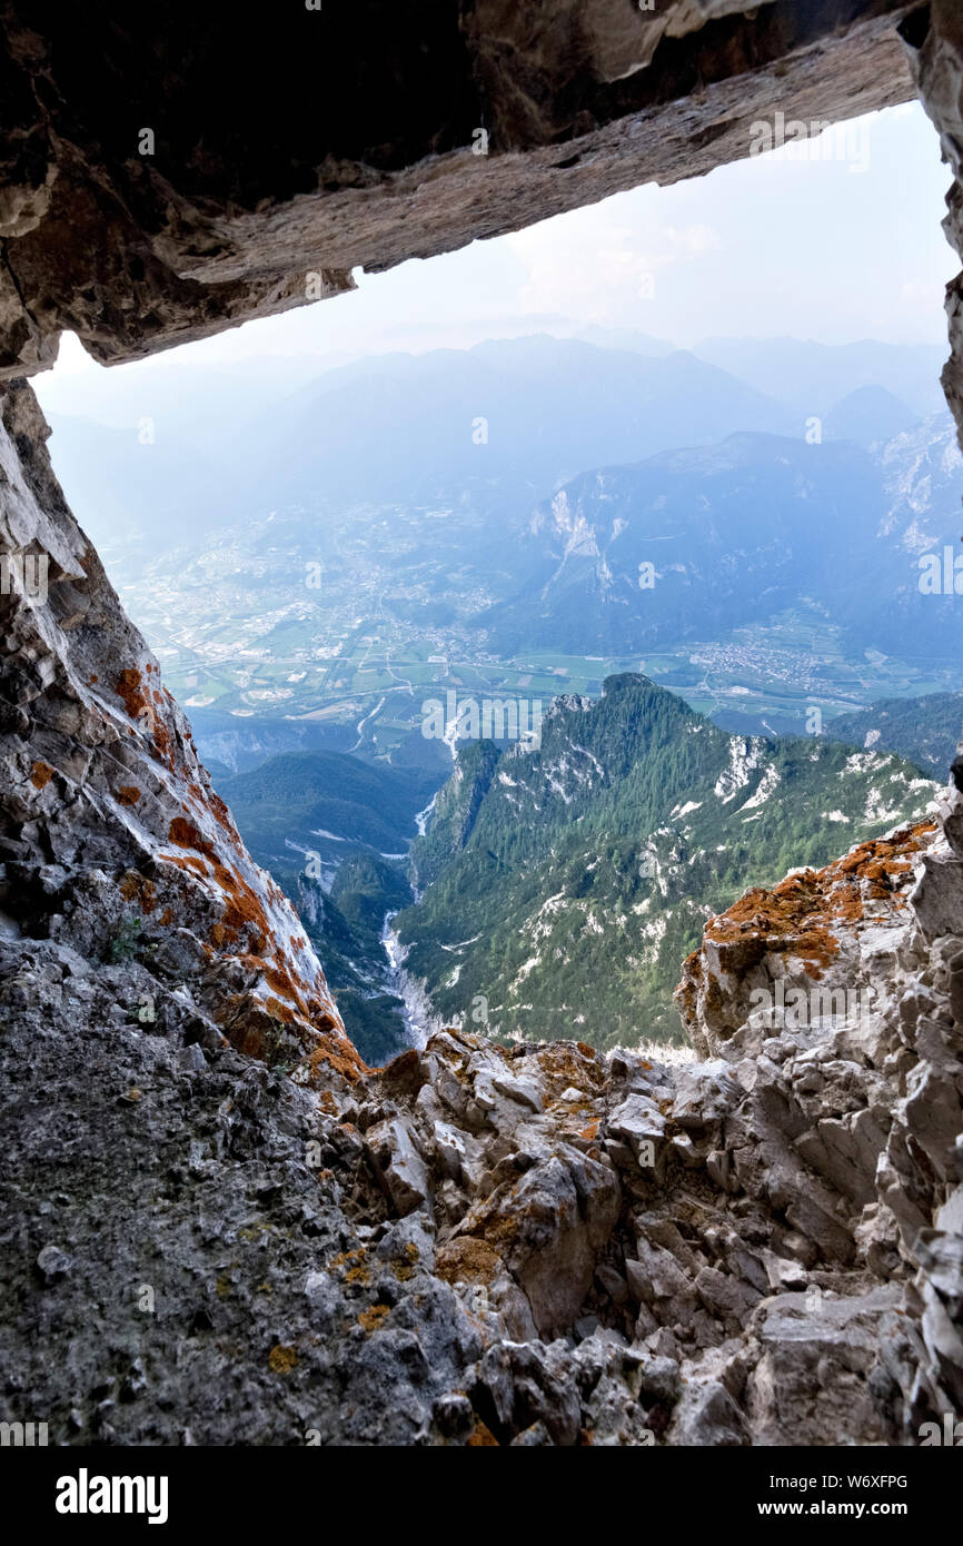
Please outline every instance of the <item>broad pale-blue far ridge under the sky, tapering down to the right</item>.
[{"label": "broad pale-blue far ridge under the sky, tapering down to the right", "polygon": [[[301,504],[454,501],[524,519],[533,499],[600,462],[637,461],[734,430],[802,433],[791,408],[685,351],[662,359],[533,335],[357,360],[252,414],[236,386],[202,433],[164,385],[130,424],[51,411],[51,455],[97,541],[173,544],[226,519]],[[56,393],[54,393],[56,400]],[[116,413],[113,413],[116,417]],[[696,430],[697,427],[697,430]]]}]

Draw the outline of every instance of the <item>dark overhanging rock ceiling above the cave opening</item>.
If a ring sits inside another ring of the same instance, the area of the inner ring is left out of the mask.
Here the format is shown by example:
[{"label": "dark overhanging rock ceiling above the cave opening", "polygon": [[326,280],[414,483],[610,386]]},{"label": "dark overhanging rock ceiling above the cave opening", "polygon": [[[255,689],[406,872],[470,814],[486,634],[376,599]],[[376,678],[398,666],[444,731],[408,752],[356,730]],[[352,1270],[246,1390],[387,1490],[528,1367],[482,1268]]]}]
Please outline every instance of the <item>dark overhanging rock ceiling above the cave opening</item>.
[{"label": "dark overhanging rock ceiling above the cave opening", "polygon": [[117,9],[0,8],[3,377],[65,329],[136,359],[702,175],[778,111],[906,100],[924,31],[897,0]]}]

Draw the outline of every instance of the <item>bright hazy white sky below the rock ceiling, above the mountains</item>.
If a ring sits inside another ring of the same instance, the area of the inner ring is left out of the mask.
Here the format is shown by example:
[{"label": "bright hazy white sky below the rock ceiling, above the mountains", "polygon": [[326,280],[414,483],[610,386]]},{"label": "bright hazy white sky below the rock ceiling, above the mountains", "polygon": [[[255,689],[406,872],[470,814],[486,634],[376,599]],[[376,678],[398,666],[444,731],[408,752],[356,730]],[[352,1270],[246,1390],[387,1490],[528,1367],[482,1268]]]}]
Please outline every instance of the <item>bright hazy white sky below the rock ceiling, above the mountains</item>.
[{"label": "bright hazy white sky below the rock ceiling, above the mountains", "polygon": [[[940,229],[949,173],[918,104],[790,150],[674,187],[649,184],[388,274],[359,271],[354,294],[156,359],[340,363],[584,323],[680,346],[711,334],[943,342],[943,286],[958,267]],[[88,368],[99,366],[66,339],[59,374]],[[82,411],[80,376],[77,390]]]}]

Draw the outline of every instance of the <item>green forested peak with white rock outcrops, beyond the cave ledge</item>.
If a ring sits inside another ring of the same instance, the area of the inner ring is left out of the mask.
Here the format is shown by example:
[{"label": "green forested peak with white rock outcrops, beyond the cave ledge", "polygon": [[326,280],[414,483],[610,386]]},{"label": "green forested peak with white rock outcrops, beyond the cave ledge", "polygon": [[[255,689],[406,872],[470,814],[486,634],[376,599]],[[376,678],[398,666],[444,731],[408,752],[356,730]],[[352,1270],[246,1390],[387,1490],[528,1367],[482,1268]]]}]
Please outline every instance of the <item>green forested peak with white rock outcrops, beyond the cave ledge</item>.
[{"label": "green forested peak with white rock outcrops, beyond the cave ledge", "polygon": [[475,745],[413,844],[397,920],[445,1020],[597,1047],[675,1039],[709,912],[921,812],[934,785],[825,739],[730,736],[641,676],[556,699],[541,748]]}]

